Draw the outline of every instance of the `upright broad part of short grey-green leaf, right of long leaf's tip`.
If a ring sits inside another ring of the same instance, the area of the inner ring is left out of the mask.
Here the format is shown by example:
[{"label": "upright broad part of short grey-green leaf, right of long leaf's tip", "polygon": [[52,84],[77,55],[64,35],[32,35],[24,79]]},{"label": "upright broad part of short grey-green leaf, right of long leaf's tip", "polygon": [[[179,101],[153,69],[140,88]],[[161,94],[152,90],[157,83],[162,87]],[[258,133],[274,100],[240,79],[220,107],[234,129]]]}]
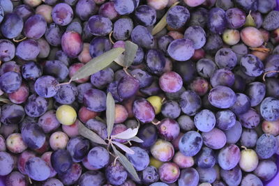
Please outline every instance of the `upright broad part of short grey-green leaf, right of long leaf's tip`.
[{"label": "upright broad part of short grey-green leaf, right of long leaf's tip", "polygon": [[125,61],[125,67],[128,68],[130,65],[132,65],[135,54],[137,54],[137,48],[138,46],[134,42],[130,42],[130,40],[127,40],[125,42],[125,54],[124,54],[124,61]]}]

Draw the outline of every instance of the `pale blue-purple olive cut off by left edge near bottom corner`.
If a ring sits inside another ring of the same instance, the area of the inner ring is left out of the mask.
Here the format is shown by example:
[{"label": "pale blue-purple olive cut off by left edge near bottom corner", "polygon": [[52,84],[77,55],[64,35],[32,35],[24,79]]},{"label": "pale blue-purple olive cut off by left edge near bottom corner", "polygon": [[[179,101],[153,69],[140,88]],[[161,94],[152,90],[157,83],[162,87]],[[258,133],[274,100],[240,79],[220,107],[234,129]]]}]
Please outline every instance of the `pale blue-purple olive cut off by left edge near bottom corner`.
[{"label": "pale blue-purple olive cut off by left edge near bottom corner", "polygon": [[0,152],[0,166],[2,167],[0,176],[8,175],[14,168],[13,157],[9,153]]}]

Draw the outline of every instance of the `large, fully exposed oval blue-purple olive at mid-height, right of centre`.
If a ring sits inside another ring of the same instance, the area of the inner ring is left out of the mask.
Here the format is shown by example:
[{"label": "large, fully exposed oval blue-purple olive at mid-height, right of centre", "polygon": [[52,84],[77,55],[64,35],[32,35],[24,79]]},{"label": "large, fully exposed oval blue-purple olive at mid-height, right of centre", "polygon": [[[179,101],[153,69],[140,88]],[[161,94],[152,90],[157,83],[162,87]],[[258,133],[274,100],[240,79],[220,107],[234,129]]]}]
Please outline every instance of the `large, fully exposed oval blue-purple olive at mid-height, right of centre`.
[{"label": "large, fully exposed oval blue-purple olive at mid-height, right of centre", "polygon": [[209,102],[220,109],[232,107],[236,102],[236,94],[227,86],[216,86],[209,92]]}]

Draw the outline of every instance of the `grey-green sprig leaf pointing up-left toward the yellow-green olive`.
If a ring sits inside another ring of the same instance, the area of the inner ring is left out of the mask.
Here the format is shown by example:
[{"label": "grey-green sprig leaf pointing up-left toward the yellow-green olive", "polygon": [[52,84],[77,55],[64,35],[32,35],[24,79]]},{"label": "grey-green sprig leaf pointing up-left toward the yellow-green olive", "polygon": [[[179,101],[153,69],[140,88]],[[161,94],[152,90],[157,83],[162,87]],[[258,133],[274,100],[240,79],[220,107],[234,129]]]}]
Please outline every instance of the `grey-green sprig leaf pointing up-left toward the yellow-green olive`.
[{"label": "grey-green sprig leaf pointing up-left toward the yellow-green olive", "polygon": [[85,127],[81,122],[79,122],[77,126],[78,132],[80,135],[82,135],[82,137],[85,137],[96,144],[107,145],[107,143],[105,143],[105,140],[99,137],[98,134],[96,134],[92,130],[89,130],[87,127]]}]

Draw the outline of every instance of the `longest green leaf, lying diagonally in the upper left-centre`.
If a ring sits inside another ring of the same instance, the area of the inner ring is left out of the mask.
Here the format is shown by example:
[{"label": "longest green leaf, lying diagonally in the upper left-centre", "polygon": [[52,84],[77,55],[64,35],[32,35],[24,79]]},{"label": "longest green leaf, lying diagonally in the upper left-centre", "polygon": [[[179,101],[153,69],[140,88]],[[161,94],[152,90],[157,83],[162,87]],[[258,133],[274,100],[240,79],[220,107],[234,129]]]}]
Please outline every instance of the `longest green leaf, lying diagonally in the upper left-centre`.
[{"label": "longest green leaf, lying diagonally in the upper left-centre", "polygon": [[96,56],[95,58],[91,59],[86,65],[84,65],[80,70],[78,70],[75,75],[70,79],[70,81],[75,81],[78,79],[82,79],[84,77],[88,77],[89,75],[93,75],[100,70],[106,68],[114,59],[116,59],[120,54],[122,54],[125,49],[121,47],[117,47],[111,49],[100,56]]}]

